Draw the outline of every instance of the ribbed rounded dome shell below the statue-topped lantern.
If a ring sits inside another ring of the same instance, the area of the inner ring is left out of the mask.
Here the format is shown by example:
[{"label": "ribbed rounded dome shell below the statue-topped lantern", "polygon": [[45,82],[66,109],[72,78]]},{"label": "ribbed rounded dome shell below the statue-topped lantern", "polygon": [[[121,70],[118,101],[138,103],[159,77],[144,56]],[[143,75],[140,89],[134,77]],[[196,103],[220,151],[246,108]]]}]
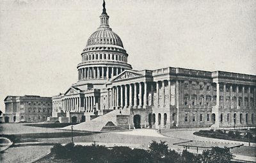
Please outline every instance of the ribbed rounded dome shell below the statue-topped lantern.
[{"label": "ribbed rounded dome shell below the statue-topped lantern", "polygon": [[121,38],[109,27],[99,27],[89,38],[86,47],[89,45],[107,44],[124,47]]}]

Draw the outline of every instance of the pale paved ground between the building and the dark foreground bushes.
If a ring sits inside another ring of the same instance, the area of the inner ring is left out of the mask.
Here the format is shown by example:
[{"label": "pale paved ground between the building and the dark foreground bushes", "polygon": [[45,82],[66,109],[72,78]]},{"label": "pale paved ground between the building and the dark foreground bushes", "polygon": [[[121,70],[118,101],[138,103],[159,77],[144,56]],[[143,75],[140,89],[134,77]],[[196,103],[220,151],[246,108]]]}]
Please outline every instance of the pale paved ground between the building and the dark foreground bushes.
[{"label": "pale paved ground between the building and the dark foreground bushes", "polygon": [[[28,134],[28,133],[42,133],[42,132],[67,132],[67,130],[60,130],[55,128],[40,128],[40,127],[31,127],[31,126],[25,126],[21,123],[5,123],[1,124],[1,128],[4,128],[4,130],[1,130],[2,134]],[[9,130],[10,129],[10,130]],[[202,128],[201,128],[202,129]],[[248,146],[248,143],[244,142],[238,142],[238,141],[228,141],[228,140],[222,140],[222,139],[212,139],[208,137],[199,137],[193,135],[193,132],[198,130],[198,128],[195,128],[193,131],[192,128],[189,128],[189,130],[170,130],[170,132],[164,132],[159,134],[159,132],[155,129],[135,129],[130,131],[124,131],[124,132],[100,132],[97,134],[92,134],[88,136],[76,136],[74,137],[74,143],[75,144],[100,144],[105,146],[130,146],[131,148],[148,148],[149,144],[152,141],[166,141],[166,144],[168,144],[169,148],[172,150],[176,150],[178,152],[182,152],[184,150],[183,146],[177,146],[175,143],[182,143],[184,141],[202,141],[202,142],[211,142],[211,143],[222,143],[222,144],[228,144],[229,146],[238,146],[239,144],[244,144],[244,146],[241,146],[240,148],[234,148],[232,149],[232,153],[236,155],[236,158],[238,159],[248,159],[248,160],[256,160],[255,158],[255,143],[251,143],[252,146]],[[70,131],[71,132],[71,131]],[[61,134],[61,133],[60,133]],[[58,138],[44,138],[44,139],[36,139],[38,143],[61,143],[66,144],[71,142],[71,137],[58,137]],[[33,144],[33,143],[31,143]],[[29,145],[29,143],[28,143]],[[6,150],[3,154],[4,162],[12,162],[13,160],[20,159],[20,162],[27,162],[28,158],[26,157],[20,157],[19,155],[13,155],[10,157],[10,153],[22,153],[24,151],[24,148],[27,148],[27,146],[22,147],[15,147],[15,148],[9,148]],[[227,146],[228,146],[227,145]],[[224,146],[224,145],[223,145]],[[32,148],[29,148],[32,149]],[[51,149],[51,146],[33,146],[33,151],[35,152],[35,157],[31,157],[32,159],[36,159],[40,156],[44,156],[45,153],[49,152]],[[37,150],[44,150],[44,152],[37,152]],[[188,151],[193,153],[202,153],[202,151],[205,150],[205,148],[199,148],[198,151],[196,148],[189,148]],[[30,158],[30,157],[29,157]]]}]

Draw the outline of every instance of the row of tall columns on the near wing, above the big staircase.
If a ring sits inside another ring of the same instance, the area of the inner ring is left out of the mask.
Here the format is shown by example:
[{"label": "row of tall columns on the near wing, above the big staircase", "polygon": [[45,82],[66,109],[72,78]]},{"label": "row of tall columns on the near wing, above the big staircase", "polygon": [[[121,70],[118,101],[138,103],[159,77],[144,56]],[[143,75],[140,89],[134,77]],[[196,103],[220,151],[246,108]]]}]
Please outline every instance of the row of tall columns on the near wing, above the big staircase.
[{"label": "row of tall columns on the near wing, above the big staircase", "polygon": [[[168,82],[168,90],[164,83]],[[108,89],[107,107],[145,108],[147,105],[160,105],[171,103],[171,81],[135,82]],[[156,85],[156,86],[155,86]],[[160,89],[160,86],[161,89]],[[164,86],[164,87],[163,87]],[[154,87],[156,87],[156,100],[154,101]],[[150,95],[150,96],[149,96]],[[150,97],[150,98],[148,98]],[[162,102],[160,102],[161,97]],[[166,98],[168,97],[168,98]],[[102,108],[103,109],[103,108]]]}]

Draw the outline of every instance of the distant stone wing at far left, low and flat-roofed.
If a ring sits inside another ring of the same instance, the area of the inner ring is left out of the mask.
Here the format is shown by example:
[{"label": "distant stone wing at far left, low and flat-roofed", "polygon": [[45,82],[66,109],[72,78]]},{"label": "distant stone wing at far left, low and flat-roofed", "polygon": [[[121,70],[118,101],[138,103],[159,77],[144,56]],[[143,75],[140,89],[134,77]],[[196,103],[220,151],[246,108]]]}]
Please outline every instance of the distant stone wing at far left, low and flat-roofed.
[{"label": "distant stone wing at far left, low and flat-roofed", "polygon": [[41,122],[52,115],[52,98],[40,96],[8,96],[4,99],[5,123]]}]

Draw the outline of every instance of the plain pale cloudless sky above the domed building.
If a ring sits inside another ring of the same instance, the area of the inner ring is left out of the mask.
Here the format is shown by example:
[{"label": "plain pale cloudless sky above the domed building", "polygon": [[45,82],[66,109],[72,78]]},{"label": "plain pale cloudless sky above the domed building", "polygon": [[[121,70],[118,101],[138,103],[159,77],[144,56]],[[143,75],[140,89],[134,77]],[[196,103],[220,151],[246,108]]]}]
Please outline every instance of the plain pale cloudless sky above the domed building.
[{"label": "plain pale cloudless sky above the domed building", "polygon": [[[256,75],[256,1],[106,0],[134,70]],[[8,95],[52,97],[77,82],[102,0],[0,0],[0,110]]]}]

